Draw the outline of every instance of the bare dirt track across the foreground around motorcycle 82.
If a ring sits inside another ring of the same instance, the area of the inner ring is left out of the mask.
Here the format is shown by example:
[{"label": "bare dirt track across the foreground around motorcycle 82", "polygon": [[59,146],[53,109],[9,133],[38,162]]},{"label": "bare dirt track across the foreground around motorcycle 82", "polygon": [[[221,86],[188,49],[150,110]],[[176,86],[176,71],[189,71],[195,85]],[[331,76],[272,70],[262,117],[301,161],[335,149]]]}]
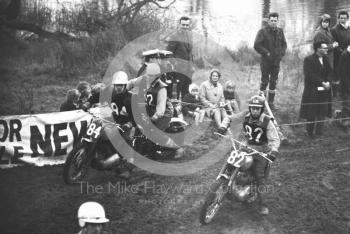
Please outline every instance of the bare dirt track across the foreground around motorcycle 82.
[{"label": "bare dirt track across the foreground around motorcycle 82", "polygon": [[136,170],[127,185],[93,172],[81,186],[63,184],[62,166],[24,166],[0,171],[0,233],[77,232],[76,210],[86,200],[106,207],[110,233],[349,233],[350,136],[330,127],[313,140],[296,132],[299,141],[282,147],[272,167],[267,217],[227,200],[212,224],[199,224],[221,162],[183,177]]}]

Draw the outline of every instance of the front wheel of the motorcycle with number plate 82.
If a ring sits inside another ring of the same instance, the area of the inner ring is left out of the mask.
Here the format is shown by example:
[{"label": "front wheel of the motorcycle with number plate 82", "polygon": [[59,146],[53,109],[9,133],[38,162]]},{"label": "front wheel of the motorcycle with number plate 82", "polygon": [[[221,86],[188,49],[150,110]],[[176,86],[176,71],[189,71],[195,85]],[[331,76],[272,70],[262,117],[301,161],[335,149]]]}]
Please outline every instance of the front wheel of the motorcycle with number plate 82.
[{"label": "front wheel of the motorcycle with number plate 82", "polygon": [[199,214],[201,224],[209,224],[218,213],[225,194],[228,192],[227,183],[226,179],[220,178],[210,186]]}]

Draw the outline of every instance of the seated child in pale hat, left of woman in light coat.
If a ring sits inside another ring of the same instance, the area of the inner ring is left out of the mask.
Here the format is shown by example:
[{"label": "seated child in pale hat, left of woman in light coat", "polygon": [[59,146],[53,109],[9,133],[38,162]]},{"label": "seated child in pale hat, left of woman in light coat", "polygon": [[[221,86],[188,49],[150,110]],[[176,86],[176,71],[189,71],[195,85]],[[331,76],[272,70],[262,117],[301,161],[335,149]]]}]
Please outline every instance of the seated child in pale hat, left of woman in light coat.
[{"label": "seated child in pale hat, left of woman in light coat", "polygon": [[196,84],[190,84],[188,88],[189,93],[182,99],[183,113],[194,118],[195,124],[203,122],[205,110],[202,109],[202,103],[199,100],[199,87]]}]

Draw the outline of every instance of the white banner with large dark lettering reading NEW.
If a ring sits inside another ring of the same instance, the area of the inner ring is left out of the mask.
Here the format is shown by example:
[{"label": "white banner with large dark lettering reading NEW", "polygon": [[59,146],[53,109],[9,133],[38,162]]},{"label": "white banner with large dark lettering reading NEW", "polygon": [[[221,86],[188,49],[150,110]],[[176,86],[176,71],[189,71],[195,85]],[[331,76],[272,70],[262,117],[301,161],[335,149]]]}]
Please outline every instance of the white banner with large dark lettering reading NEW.
[{"label": "white banner with large dark lettering reading NEW", "polygon": [[63,163],[91,118],[82,110],[0,116],[0,161]]}]

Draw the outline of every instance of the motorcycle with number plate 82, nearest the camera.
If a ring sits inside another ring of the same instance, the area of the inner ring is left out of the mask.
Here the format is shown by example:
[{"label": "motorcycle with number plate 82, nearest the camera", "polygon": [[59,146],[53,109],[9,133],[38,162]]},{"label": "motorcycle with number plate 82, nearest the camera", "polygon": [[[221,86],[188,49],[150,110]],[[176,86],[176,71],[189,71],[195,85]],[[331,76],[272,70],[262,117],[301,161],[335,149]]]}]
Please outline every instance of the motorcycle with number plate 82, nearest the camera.
[{"label": "motorcycle with number plate 82, nearest the camera", "polygon": [[250,168],[253,165],[254,154],[265,158],[267,154],[258,152],[232,137],[230,140],[233,150],[215,182],[211,184],[200,210],[199,221],[204,225],[214,219],[225,197],[242,203],[251,203],[258,197],[256,181]]}]

